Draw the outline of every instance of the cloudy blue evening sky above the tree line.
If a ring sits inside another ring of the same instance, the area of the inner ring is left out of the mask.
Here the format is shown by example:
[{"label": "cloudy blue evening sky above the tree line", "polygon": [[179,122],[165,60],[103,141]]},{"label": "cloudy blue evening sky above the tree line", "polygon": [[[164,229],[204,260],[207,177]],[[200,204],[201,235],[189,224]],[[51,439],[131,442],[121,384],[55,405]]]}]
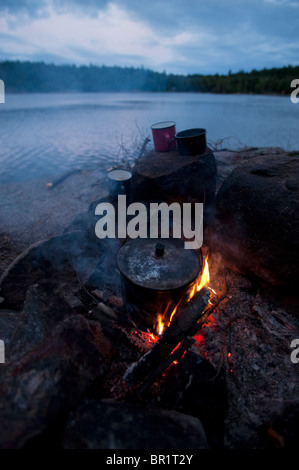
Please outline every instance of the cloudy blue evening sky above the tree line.
[{"label": "cloudy blue evening sky above the tree line", "polygon": [[299,0],[0,0],[0,60],[226,74],[299,65]]}]

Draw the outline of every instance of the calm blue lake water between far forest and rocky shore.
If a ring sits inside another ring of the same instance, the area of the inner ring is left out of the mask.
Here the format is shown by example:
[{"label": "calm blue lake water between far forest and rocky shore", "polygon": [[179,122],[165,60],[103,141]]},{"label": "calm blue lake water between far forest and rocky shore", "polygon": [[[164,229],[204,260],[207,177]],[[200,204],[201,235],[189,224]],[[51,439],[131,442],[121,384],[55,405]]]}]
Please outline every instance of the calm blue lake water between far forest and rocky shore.
[{"label": "calm blue lake water between far forest and rocky shore", "polygon": [[77,167],[109,168],[151,138],[151,124],[168,120],[177,132],[207,129],[212,148],[299,149],[299,103],[287,96],[7,94],[0,104],[0,184]]}]

